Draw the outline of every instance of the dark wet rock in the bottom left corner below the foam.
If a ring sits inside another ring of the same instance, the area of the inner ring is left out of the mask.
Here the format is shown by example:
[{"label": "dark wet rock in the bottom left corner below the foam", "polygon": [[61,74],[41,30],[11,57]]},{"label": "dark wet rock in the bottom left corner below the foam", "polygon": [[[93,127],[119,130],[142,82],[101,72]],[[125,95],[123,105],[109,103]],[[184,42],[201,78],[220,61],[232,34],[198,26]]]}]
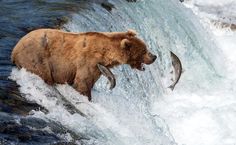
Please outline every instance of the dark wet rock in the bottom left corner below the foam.
[{"label": "dark wet rock in the bottom left corner below the foam", "polygon": [[[74,141],[66,141],[61,135],[69,133]],[[58,136],[59,135],[59,136]],[[81,137],[62,125],[35,117],[12,116],[0,112],[0,145],[5,144],[52,144],[74,145]]]}]

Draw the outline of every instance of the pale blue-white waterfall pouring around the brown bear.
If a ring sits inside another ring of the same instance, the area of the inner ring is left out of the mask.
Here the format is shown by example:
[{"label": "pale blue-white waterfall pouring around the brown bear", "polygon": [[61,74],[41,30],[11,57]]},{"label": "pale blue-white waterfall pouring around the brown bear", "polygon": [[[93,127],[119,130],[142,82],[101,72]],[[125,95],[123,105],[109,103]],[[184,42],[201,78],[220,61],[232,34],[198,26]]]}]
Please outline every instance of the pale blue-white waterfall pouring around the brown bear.
[{"label": "pale blue-white waterfall pouring around the brown bear", "polygon": [[[116,87],[110,91],[106,78],[101,77],[92,90],[92,102],[68,85],[57,85],[60,94],[87,117],[70,114],[55,89],[24,69],[13,69],[11,78],[20,85],[25,98],[49,110],[48,114],[33,111],[32,116],[59,122],[82,136],[74,138],[78,144],[177,144],[176,134],[173,135],[170,128],[171,119],[166,119],[169,114],[165,115],[171,112],[165,105],[172,106],[165,104],[165,99],[170,101],[172,96],[183,94],[203,96],[219,89],[219,82],[225,75],[221,50],[192,11],[177,0],[106,2],[113,6],[111,11],[91,2],[88,8],[74,14],[64,29],[73,32],[134,29],[148,49],[158,56],[154,64],[146,66],[144,72],[126,65],[112,69],[117,79]],[[173,92],[167,89],[171,83],[170,50],[180,58],[184,69]],[[178,115],[177,111],[172,112]]]}]

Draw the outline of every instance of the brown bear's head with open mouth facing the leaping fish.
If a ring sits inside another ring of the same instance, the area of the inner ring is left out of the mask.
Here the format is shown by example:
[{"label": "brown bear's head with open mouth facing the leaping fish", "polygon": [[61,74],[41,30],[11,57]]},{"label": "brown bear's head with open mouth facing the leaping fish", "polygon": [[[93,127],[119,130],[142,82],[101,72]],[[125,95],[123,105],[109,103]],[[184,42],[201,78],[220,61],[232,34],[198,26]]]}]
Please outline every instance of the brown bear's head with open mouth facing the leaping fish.
[{"label": "brown bear's head with open mouth facing the leaping fish", "polygon": [[125,64],[129,64],[131,68],[144,71],[144,64],[153,63],[157,56],[150,53],[143,40],[136,37],[136,32],[129,30],[127,36],[120,42],[120,47],[125,57]]}]

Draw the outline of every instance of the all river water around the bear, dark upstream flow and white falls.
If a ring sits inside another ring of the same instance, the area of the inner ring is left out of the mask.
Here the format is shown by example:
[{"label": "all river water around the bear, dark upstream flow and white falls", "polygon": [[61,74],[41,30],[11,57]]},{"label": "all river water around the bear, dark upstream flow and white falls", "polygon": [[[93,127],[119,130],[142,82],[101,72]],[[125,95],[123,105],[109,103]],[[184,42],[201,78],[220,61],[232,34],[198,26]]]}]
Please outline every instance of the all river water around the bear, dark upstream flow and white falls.
[{"label": "all river water around the bear, dark upstream flow and white falls", "polygon": [[[4,14],[1,20],[8,22],[1,24],[1,32],[4,32],[1,33],[4,35],[1,36],[0,67],[3,94],[1,142],[86,145],[236,143],[233,123],[236,99],[232,87],[235,77],[229,77],[232,69],[228,69],[228,55],[224,55],[225,50],[212,32],[206,30],[201,19],[179,1],[22,2],[25,4],[1,2],[4,4],[1,7],[6,7],[5,11],[1,10]],[[22,9],[17,11],[17,8]],[[13,12],[6,13],[7,10]],[[135,29],[158,59],[146,66],[144,72],[126,65],[112,69],[117,79],[116,88],[110,91],[106,78],[101,77],[92,90],[92,102],[88,102],[72,87],[48,86],[36,75],[18,70],[10,63],[12,47],[26,31],[53,27],[58,23],[63,23],[61,29],[73,32]],[[19,26],[23,26],[24,31],[19,30]],[[184,69],[173,92],[167,88],[171,83],[170,50],[179,56]],[[63,105],[61,95],[86,117],[71,114]],[[18,106],[11,102],[13,99],[20,102]],[[21,106],[27,107],[22,111]],[[5,124],[10,128],[4,127]],[[19,135],[22,132],[28,133]]]}]

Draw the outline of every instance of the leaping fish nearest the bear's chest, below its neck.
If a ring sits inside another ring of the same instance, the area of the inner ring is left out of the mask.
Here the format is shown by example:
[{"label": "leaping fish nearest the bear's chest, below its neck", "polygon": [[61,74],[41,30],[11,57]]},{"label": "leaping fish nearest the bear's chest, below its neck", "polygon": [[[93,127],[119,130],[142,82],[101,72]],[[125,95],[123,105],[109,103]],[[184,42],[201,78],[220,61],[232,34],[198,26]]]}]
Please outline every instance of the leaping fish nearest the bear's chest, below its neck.
[{"label": "leaping fish nearest the bear's chest, below its neck", "polygon": [[110,90],[115,88],[116,86],[116,79],[114,74],[110,71],[109,68],[101,65],[101,64],[97,64],[98,69],[101,71],[101,73],[107,77],[107,79],[109,80],[111,86],[110,86]]}]

